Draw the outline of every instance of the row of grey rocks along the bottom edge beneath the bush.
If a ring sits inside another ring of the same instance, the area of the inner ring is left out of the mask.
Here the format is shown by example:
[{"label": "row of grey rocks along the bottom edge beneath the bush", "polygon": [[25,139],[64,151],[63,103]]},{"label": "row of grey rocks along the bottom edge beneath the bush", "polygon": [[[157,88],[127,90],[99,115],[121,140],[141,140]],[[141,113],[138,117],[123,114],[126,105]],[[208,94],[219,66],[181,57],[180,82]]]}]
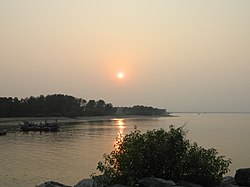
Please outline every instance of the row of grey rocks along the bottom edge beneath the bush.
[{"label": "row of grey rocks along the bottom edge beneath the bush", "polygon": [[[101,182],[101,176],[97,176],[95,179],[83,179],[73,186],[67,186],[59,182],[48,181],[42,183],[36,187],[105,187]],[[154,177],[146,177],[138,181],[136,185],[138,187],[203,187],[199,184],[194,184],[188,181],[179,180],[165,180]],[[212,187],[250,187],[250,168],[241,168],[236,171],[234,177],[224,177],[220,184]],[[110,187],[129,187],[121,184],[115,184]]]}]

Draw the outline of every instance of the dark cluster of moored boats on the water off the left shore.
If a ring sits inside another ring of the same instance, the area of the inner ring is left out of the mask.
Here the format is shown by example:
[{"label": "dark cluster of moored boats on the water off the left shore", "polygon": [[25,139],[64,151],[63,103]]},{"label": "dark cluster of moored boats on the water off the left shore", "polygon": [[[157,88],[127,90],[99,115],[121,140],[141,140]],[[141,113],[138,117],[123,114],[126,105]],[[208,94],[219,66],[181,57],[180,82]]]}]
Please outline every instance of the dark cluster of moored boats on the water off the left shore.
[{"label": "dark cluster of moored boats on the water off the left shore", "polygon": [[46,132],[54,132],[58,131],[59,125],[57,122],[55,123],[48,123],[45,121],[44,123],[34,123],[29,121],[23,121],[23,123],[19,123],[19,127],[21,131],[28,132],[28,131],[46,131]]}]

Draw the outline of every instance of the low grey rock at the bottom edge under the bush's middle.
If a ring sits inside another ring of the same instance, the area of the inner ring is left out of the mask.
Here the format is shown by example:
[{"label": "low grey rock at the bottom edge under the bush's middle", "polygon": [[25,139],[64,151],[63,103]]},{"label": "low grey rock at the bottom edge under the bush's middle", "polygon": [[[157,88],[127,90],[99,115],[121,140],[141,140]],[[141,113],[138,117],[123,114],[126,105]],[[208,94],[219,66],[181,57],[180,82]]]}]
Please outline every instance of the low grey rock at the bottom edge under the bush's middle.
[{"label": "low grey rock at the bottom edge under the bush's middle", "polygon": [[154,177],[146,177],[139,180],[138,182],[144,187],[172,187],[176,185],[172,180],[165,180]]}]

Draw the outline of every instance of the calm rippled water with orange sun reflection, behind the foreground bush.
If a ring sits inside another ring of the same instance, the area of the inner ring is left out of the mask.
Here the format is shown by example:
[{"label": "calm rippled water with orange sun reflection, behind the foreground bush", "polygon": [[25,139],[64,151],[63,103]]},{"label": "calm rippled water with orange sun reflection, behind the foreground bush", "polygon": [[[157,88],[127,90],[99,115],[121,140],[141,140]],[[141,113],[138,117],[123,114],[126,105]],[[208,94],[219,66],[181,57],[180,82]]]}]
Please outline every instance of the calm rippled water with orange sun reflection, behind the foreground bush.
[{"label": "calm rippled water with orange sun reflection, behind the foreground bush", "polygon": [[0,186],[34,187],[48,180],[74,185],[88,178],[113,149],[115,138],[137,129],[179,127],[188,138],[231,158],[229,175],[250,167],[250,114],[179,114],[180,117],[128,118],[62,126],[56,133],[13,130],[0,136]]}]

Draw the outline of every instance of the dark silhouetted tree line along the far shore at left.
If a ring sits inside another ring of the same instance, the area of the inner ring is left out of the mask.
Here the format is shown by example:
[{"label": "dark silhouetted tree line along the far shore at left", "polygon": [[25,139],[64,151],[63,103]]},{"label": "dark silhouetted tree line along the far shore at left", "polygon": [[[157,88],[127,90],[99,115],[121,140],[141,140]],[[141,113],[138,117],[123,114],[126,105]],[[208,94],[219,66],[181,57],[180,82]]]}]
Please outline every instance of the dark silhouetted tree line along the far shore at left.
[{"label": "dark silhouetted tree line along the far shore at left", "polygon": [[166,109],[146,106],[114,107],[103,100],[85,100],[69,95],[0,97],[0,117],[81,117],[107,115],[165,115]]}]

